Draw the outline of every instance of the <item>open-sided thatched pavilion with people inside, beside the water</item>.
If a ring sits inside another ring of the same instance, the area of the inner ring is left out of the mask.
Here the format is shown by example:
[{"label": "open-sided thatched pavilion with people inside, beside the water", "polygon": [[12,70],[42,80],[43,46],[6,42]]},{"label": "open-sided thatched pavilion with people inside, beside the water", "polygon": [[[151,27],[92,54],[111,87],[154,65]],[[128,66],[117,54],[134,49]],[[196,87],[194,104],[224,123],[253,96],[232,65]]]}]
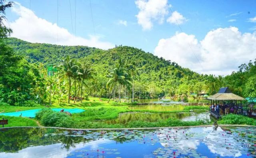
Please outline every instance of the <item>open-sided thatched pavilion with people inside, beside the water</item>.
[{"label": "open-sided thatched pavilion with people inside, beside the water", "polygon": [[[207,99],[211,100],[210,114],[216,118],[230,113],[243,114],[242,100],[245,99],[233,94],[228,87],[220,88],[218,93]],[[214,105],[214,108],[212,108],[212,105]]]}]

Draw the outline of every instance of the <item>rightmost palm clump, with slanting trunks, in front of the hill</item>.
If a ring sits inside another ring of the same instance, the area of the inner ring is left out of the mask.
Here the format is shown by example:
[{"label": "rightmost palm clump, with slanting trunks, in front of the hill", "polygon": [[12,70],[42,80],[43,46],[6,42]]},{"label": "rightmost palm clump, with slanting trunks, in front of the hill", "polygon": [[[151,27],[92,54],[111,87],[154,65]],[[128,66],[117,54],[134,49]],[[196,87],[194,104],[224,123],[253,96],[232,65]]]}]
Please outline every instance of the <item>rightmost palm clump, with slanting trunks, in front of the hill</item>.
[{"label": "rightmost palm clump, with slanting trunks, in front of the hill", "polygon": [[119,100],[120,100],[120,91],[121,86],[126,86],[129,88],[131,86],[131,75],[127,68],[124,67],[124,62],[122,62],[121,59],[118,60],[118,62],[115,63],[114,69],[110,70],[110,73],[107,75],[108,78],[110,78],[107,82],[107,88],[112,88],[112,93],[110,94],[109,100],[111,96],[114,93],[114,90],[116,89],[116,85],[119,84]]}]

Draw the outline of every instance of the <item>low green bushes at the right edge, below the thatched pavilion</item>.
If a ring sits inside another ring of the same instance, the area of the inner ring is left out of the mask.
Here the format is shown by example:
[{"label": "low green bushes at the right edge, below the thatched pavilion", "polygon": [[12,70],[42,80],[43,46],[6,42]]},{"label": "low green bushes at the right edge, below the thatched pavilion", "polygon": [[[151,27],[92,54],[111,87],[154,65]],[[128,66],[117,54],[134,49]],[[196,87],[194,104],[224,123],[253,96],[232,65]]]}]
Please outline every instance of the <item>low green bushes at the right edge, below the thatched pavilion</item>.
[{"label": "low green bushes at the right edge, below the thatched pavilion", "polygon": [[247,116],[229,114],[222,117],[218,124],[245,124],[256,126],[256,119]]}]

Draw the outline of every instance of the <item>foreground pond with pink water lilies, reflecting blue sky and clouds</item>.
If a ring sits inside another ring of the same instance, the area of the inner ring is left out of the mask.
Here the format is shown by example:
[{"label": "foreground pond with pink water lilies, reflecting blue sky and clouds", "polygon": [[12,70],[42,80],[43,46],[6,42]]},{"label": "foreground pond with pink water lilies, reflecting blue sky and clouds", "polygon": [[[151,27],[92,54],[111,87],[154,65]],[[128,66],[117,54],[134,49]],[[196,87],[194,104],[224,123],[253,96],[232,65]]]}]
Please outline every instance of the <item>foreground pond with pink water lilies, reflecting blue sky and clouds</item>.
[{"label": "foreground pond with pink water lilies, reflecting blue sky and clouds", "polygon": [[158,130],[0,130],[1,158],[252,158],[256,128]]}]

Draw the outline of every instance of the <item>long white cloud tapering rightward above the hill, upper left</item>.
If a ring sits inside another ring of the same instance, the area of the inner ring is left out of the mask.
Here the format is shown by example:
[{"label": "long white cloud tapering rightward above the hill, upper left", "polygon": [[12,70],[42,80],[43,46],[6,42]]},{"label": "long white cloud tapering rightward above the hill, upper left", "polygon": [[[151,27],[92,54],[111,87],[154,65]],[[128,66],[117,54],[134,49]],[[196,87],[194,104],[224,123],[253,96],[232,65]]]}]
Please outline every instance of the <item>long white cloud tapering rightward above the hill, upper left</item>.
[{"label": "long white cloud tapering rightward above the hill, upper left", "polygon": [[20,38],[28,42],[50,43],[60,45],[83,45],[102,49],[113,48],[110,42],[100,41],[101,36],[90,35],[89,39],[74,36],[67,29],[52,24],[45,19],[39,18],[34,12],[16,3],[12,12],[19,18],[14,22],[7,22],[12,28],[12,37]]}]

